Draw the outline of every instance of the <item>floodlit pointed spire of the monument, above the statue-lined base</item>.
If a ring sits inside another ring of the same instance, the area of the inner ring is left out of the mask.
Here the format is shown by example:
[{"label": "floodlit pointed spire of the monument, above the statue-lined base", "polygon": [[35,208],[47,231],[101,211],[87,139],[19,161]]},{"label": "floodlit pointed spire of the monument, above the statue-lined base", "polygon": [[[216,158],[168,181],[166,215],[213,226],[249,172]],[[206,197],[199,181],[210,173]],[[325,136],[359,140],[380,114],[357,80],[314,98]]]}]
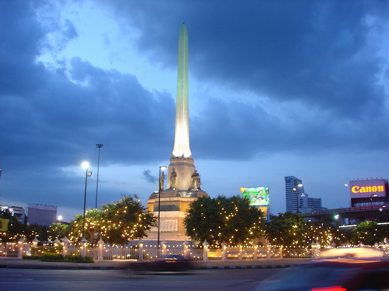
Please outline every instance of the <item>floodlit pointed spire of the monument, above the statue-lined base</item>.
[{"label": "floodlit pointed spire of the monument, above the statue-lined base", "polygon": [[178,38],[176,127],[172,158],[191,158],[191,156],[188,106],[188,32],[185,23],[183,23]]}]

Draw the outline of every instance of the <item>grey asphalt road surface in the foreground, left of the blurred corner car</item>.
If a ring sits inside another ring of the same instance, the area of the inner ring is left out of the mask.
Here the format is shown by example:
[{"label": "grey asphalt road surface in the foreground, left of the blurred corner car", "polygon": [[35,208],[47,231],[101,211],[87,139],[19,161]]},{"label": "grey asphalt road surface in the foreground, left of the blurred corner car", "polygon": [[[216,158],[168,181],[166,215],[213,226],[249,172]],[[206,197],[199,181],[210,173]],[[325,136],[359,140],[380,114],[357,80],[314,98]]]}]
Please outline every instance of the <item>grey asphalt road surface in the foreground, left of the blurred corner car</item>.
[{"label": "grey asphalt road surface in the foreground, left of the blurred corner car", "polygon": [[0,290],[252,290],[281,269],[215,269],[189,273],[134,273],[127,270],[0,269]]}]

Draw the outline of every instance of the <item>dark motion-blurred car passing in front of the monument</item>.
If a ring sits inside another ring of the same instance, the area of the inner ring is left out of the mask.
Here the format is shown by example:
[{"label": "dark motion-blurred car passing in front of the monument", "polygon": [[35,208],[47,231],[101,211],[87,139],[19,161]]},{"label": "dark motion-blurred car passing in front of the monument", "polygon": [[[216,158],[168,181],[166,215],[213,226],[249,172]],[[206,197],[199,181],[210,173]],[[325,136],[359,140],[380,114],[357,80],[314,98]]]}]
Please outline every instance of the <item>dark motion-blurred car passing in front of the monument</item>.
[{"label": "dark motion-blurred car passing in front of the monument", "polygon": [[137,271],[183,272],[193,268],[191,261],[179,255],[162,255],[160,259],[132,263],[130,269]]}]

